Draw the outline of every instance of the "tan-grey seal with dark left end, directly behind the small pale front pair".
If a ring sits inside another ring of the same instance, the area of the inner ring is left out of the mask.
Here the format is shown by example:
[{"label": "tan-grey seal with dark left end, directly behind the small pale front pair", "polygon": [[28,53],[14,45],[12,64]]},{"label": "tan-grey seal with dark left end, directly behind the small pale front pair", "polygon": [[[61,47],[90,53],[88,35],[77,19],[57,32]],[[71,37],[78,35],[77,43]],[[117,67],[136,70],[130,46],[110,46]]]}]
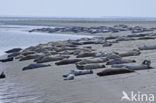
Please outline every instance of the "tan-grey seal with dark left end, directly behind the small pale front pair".
[{"label": "tan-grey seal with dark left end, directly behind the small pale front pair", "polygon": [[104,64],[76,64],[77,69],[84,70],[84,69],[99,69],[99,68],[105,68]]}]

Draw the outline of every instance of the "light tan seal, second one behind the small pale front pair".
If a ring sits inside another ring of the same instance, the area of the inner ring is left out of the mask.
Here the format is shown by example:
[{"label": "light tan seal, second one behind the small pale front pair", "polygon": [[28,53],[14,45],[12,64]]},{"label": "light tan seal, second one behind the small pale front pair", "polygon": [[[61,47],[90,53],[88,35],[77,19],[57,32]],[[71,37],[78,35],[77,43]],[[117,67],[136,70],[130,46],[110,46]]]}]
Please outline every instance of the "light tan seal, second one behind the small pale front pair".
[{"label": "light tan seal, second one behind the small pale front pair", "polygon": [[77,64],[90,64],[90,63],[104,63],[108,61],[108,58],[95,58],[95,59],[83,59],[82,61],[78,62]]}]

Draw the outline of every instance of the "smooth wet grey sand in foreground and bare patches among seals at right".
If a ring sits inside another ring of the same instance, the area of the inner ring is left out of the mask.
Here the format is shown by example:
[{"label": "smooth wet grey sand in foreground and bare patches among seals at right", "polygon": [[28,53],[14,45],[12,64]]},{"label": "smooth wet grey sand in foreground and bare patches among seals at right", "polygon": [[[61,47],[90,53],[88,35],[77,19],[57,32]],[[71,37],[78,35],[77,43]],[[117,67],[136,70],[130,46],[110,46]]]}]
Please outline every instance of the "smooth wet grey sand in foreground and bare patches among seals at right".
[{"label": "smooth wet grey sand in foreground and bare patches among seals at right", "polygon": [[[97,51],[125,52],[152,44],[156,44],[156,41],[121,41],[111,47],[102,47],[98,44],[91,46]],[[2,103],[129,103],[121,101],[122,91],[127,93],[140,91],[156,95],[156,50],[141,52],[139,56],[126,58],[135,59],[137,61],[135,64],[149,59],[154,69],[104,77],[96,75],[102,70],[97,69],[92,75],[78,76],[71,81],[64,81],[62,75],[76,69],[74,64],[56,66],[55,62],[50,62],[52,65],[50,67],[22,71],[23,67],[33,61],[15,60],[0,63],[0,68],[7,75],[7,78],[0,80],[0,90],[2,90],[0,100]]]}]

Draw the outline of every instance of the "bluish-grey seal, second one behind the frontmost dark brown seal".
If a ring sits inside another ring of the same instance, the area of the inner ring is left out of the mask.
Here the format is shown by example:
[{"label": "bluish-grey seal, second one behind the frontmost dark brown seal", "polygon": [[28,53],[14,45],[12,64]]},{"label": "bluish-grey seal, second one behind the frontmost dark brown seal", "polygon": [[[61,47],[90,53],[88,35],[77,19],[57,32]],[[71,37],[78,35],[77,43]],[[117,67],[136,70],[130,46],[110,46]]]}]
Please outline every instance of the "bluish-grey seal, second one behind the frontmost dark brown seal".
[{"label": "bluish-grey seal, second one behind the frontmost dark brown seal", "polygon": [[136,62],[135,60],[129,59],[113,59],[106,63],[106,65],[113,65],[113,64],[122,64],[122,63],[133,63]]}]

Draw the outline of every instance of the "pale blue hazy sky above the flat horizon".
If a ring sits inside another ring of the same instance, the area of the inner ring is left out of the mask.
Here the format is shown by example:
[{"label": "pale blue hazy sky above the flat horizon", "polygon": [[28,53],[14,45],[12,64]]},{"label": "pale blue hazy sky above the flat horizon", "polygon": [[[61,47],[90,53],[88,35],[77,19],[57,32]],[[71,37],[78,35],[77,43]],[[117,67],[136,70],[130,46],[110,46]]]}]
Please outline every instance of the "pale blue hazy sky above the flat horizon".
[{"label": "pale blue hazy sky above the flat horizon", "polygon": [[156,17],[156,0],[0,0],[0,16]]}]

